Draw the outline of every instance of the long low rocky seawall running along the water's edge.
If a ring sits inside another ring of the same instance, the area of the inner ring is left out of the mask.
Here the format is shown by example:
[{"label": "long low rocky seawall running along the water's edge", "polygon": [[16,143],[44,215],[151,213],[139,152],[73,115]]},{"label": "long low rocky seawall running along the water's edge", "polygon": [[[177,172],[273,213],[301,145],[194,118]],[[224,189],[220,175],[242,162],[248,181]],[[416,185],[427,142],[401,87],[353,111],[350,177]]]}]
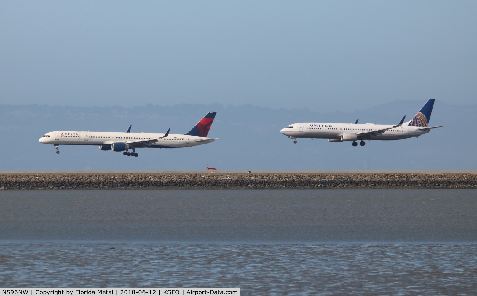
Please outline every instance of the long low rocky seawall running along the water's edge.
[{"label": "long low rocky seawall running along the water's edge", "polygon": [[477,188],[474,173],[10,173],[0,190],[24,189]]}]

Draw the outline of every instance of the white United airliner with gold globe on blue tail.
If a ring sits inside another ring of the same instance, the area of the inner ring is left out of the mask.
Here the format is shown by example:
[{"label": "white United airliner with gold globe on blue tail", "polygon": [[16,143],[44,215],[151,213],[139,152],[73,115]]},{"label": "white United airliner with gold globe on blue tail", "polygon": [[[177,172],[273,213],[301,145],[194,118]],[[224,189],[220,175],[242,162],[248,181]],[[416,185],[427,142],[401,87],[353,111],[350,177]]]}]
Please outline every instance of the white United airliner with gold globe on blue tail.
[{"label": "white United airliner with gold globe on blue tail", "polygon": [[404,118],[395,125],[383,124],[357,124],[356,123],[329,123],[329,122],[302,122],[290,124],[288,127],[280,130],[280,133],[294,139],[297,138],[327,138],[329,142],[353,142],[353,146],[358,146],[356,141],[361,141],[364,146],[364,140],[400,140],[405,138],[419,137],[428,133],[433,128],[428,127],[431,118],[434,99],[425,103],[424,107],[417,112],[411,121],[404,122]]}]

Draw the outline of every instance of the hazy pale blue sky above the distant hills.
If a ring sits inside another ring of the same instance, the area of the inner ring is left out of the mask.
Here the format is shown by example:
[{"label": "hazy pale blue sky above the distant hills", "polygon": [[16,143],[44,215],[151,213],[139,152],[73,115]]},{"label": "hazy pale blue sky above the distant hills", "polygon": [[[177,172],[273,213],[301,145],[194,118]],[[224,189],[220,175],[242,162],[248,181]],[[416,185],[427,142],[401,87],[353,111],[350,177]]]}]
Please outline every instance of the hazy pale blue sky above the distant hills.
[{"label": "hazy pale blue sky above the distant hills", "polygon": [[476,103],[477,1],[0,2],[0,103]]}]

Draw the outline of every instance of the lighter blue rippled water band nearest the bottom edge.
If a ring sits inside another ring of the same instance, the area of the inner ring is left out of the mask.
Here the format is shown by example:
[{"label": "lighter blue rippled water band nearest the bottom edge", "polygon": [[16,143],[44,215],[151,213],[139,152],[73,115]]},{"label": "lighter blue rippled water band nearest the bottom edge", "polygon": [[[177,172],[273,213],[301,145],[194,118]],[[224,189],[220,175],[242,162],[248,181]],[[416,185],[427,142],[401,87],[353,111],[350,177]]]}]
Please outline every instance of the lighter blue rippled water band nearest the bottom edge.
[{"label": "lighter blue rippled water band nearest the bottom edge", "polygon": [[477,245],[2,243],[7,287],[240,287],[243,295],[472,295]]}]

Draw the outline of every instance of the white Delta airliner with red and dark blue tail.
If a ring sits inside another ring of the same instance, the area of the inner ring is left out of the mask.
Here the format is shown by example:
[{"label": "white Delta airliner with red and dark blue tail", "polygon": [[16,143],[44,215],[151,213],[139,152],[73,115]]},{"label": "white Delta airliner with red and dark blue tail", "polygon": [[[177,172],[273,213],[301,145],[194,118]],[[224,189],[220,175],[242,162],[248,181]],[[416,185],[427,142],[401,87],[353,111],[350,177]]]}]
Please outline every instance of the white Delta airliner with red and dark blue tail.
[{"label": "white Delta airliner with red and dark blue tail", "polygon": [[[38,141],[54,145],[56,153],[60,153],[59,145],[98,145],[100,150],[124,151],[124,155],[138,156],[136,148],[183,148],[215,141],[218,138],[207,138],[207,134],[216,113],[208,112],[184,135],[169,134],[170,128],[165,134],[131,133],[129,126],[126,132],[52,131]],[[133,152],[128,152],[129,149]]]}]

